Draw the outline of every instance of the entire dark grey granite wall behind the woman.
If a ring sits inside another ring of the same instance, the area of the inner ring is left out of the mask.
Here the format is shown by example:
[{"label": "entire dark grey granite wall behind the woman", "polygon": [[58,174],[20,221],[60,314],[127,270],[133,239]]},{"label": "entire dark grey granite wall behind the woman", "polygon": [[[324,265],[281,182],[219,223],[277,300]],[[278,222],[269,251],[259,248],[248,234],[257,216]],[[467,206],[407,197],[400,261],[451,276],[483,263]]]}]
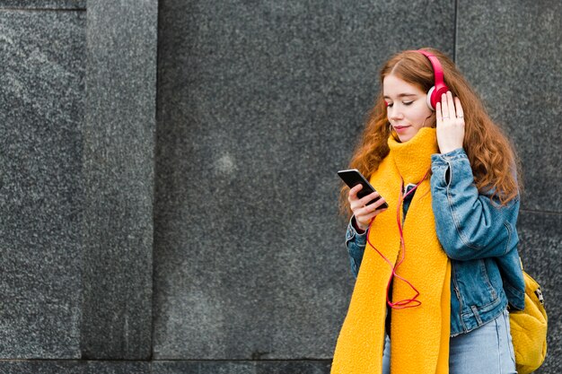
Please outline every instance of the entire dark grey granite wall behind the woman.
[{"label": "entire dark grey granite wall behind the woman", "polygon": [[0,0],[0,372],[328,373],[339,181],[391,53],[440,48],[522,158],[562,370],[562,16],[540,4]]}]

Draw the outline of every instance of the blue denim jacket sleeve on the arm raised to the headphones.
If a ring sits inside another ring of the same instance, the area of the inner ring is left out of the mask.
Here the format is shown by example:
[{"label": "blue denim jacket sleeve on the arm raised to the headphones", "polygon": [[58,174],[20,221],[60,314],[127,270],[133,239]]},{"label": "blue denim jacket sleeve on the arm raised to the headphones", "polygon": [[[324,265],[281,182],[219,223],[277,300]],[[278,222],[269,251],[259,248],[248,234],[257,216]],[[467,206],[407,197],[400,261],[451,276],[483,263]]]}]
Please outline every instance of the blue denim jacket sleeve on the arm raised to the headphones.
[{"label": "blue denim jacket sleeve on the arm raised to the headphones", "polygon": [[462,148],[433,154],[431,191],[437,237],[459,261],[504,256],[515,247],[519,198],[505,206],[479,194]]}]

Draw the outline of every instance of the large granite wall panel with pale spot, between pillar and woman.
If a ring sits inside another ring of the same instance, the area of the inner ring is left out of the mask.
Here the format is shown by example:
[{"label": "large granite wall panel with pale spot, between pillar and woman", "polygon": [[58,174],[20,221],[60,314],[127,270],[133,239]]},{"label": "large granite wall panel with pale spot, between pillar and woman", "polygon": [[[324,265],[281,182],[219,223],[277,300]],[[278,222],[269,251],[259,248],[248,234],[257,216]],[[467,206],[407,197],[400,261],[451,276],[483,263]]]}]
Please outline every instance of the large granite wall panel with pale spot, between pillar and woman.
[{"label": "large granite wall panel with pale spot, between pillar and woman", "polygon": [[382,61],[452,54],[453,7],[160,2],[154,359],[331,358],[354,283],[336,171]]}]

